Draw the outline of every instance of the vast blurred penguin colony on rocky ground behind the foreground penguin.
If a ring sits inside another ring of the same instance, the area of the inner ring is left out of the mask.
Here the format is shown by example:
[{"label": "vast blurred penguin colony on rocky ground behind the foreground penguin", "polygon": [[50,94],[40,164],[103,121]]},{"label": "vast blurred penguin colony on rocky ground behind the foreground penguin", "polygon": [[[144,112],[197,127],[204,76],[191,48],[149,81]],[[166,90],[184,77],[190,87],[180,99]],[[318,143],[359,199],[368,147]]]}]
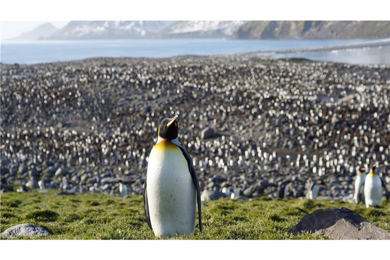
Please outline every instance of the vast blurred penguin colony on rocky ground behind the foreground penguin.
[{"label": "vast blurred penguin colony on rocky ground behind the foreground penguin", "polygon": [[377,161],[390,187],[388,65],[233,55],[1,64],[1,72],[3,190],[44,180],[117,194],[122,179],[128,194],[142,194],[161,115],[175,114],[202,191],[299,198],[319,178],[328,185],[320,196],[341,200],[353,193],[355,167]]}]

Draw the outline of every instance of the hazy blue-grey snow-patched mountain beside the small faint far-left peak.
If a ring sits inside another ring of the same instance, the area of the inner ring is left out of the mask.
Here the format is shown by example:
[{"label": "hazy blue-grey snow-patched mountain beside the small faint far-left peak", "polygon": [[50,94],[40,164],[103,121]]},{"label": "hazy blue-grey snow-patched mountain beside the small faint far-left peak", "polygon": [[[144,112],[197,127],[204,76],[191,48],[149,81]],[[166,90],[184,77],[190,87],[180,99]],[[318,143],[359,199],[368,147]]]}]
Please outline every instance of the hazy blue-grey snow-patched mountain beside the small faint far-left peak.
[{"label": "hazy blue-grey snow-patched mountain beside the small faint far-left peak", "polygon": [[45,40],[137,39],[157,34],[171,21],[71,21]]}]

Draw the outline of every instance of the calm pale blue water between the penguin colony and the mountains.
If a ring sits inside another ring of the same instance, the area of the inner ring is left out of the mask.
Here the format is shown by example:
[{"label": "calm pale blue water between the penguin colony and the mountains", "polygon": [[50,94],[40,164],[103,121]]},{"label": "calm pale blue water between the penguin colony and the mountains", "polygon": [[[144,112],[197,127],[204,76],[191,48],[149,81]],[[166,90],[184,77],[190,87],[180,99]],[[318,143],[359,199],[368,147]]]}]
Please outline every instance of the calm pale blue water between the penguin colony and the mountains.
[{"label": "calm pale blue water between the penguin colony and the mountains", "polygon": [[[377,40],[381,41],[381,40]],[[93,57],[165,58],[183,55],[223,55],[258,51],[310,49],[372,42],[348,40],[75,40],[75,41],[3,41],[2,63],[34,64],[80,60]],[[350,48],[327,51],[262,53],[272,58],[307,58],[315,61],[350,64],[390,64],[390,46]]]}]

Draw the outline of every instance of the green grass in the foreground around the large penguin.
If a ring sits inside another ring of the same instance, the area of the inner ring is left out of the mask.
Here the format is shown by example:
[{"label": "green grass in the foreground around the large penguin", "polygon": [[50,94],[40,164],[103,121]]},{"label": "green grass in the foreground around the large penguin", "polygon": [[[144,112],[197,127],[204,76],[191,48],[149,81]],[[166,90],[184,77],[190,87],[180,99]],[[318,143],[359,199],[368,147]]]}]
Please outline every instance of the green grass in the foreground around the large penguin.
[{"label": "green grass in the foreground around the large penguin", "polygon": [[[121,199],[105,194],[54,193],[1,194],[0,231],[31,222],[52,234],[41,239],[155,239],[145,220],[142,196]],[[306,199],[220,199],[202,204],[204,232],[200,233],[197,224],[190,239],[326,239],[310,234],[293,236],[287,231],[308,213],[339,207],[349,208],[390,231],[388,203],[370,209],[362,204]]]}]

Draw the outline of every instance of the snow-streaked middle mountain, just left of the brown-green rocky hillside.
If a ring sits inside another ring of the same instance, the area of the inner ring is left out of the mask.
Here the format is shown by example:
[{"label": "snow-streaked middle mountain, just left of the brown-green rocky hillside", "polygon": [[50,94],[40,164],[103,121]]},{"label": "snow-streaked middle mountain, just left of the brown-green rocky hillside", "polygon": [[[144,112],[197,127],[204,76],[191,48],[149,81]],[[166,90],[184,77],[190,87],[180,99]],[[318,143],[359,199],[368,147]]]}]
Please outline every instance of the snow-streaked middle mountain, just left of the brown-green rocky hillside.
[{"label": "snow-streaked middle mountain, just left of the brown-green rocky hillside", "polygon": [[177,21],[160,32],[163,38],[230,37],[245,21]]}]

